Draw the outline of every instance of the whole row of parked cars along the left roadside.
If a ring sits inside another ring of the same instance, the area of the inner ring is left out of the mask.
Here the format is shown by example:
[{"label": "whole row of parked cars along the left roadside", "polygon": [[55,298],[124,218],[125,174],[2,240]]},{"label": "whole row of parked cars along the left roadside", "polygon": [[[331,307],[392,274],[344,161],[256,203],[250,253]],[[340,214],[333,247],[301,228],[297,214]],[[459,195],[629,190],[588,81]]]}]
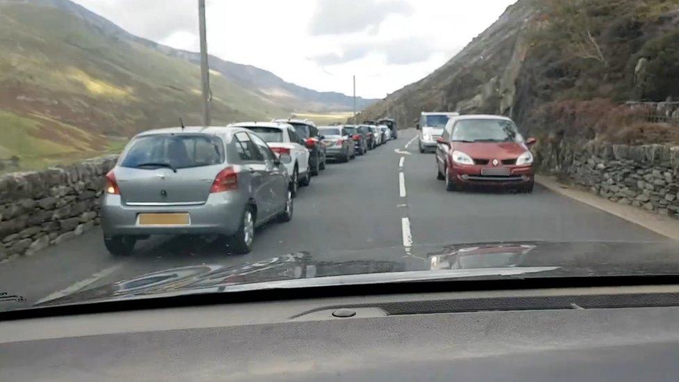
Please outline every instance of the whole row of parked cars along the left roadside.
[{"label": "whole row of parked cars along the left roadside", "polygon": [[255,228],[290,221],[298,187],[395,138],[394,125],[317,127],[310,120],[172,127],[138,134],[106,174],[104,244],[129,255],[152,234],[213,235],[250,253]]}]

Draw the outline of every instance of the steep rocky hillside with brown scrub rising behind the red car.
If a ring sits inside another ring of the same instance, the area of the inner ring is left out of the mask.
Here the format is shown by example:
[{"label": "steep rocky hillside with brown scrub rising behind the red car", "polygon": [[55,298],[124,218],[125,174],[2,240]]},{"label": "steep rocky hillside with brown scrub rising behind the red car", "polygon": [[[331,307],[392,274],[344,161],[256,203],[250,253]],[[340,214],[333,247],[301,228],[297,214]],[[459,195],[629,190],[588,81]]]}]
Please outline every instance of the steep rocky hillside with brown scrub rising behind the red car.
[{"label": "steep rocky hillside with brown scrub rising behind the red car", "polygon": [[423,110],[497,113],[538,136],[677,141],[678,129],[648,118],[653,110],[621,104],[679,101],[678,42],[679,0],[520,0],[360,119],[412,127]]}]

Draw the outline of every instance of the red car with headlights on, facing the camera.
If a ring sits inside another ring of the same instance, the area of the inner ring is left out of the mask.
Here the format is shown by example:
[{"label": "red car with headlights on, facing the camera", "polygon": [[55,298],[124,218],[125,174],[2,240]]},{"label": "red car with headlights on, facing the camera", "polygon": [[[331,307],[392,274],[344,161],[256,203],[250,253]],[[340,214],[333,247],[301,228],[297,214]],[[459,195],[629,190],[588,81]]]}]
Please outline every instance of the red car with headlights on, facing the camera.
[{"label": "red car with headlights on, facing the camera", "polygon": [[448,121],[436,148],[436,173],[455,191],[470,186],[502,186],[533,191],[534,138],[524,140],[502,116],[458,116]]}]

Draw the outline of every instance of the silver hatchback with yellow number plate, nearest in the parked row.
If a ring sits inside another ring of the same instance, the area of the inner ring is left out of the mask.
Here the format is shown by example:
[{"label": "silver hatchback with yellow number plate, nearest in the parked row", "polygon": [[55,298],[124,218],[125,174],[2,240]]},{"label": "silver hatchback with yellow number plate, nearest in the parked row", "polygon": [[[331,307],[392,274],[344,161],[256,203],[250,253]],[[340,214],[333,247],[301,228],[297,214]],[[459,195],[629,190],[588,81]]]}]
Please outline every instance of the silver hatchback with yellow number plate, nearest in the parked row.
[{"label": "silver hatchback with yellow number plate, nearest in the parked row", "polygon": [[255,226],[292,218],[289,160],[242,128],[138,134],[106,175],[104,244],[128,255],[151,234],[217,234],[232,252],[249,253]]}]

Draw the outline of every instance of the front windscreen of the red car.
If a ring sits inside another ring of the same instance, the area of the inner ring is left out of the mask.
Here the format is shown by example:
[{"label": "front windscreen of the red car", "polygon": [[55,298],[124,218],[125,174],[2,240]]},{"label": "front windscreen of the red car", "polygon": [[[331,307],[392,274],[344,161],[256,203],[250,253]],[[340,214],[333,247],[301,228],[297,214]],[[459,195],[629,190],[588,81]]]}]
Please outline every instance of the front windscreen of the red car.
[{"label": "front windscreen of the red car", "polygon": [[453,129],[453,141],[522,142],[516,125],[509,120],[461,120]]}]

